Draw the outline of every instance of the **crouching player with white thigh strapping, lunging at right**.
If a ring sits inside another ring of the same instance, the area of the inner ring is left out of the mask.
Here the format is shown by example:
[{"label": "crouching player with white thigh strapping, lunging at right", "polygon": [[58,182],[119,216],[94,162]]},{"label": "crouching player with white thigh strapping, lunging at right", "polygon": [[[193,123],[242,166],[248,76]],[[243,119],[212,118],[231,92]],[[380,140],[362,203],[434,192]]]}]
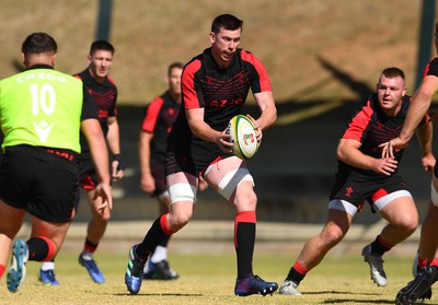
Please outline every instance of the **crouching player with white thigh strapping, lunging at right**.
[{"label": "crouching player with white thigh strapping, lunging at right", "polygon": [[[397,174],[403,150],[381,157],[379,145],[397,134],[411,104],[405,77],[399,68],[387,68],[372,94],[348,124],[337,146],[338,169],[328,202],[327,221],[319,235],[308,241],[280,286],[281,294],[300,295],[297,286],[348,232],[354,215],[367,200],[388,221],[376,241],[362,249],[370,275],[387,285],[382,255],[406,239],[417,227],[418,213],[406,183]],[[431,124],[417,129],[423,166],[431,171]]]}]

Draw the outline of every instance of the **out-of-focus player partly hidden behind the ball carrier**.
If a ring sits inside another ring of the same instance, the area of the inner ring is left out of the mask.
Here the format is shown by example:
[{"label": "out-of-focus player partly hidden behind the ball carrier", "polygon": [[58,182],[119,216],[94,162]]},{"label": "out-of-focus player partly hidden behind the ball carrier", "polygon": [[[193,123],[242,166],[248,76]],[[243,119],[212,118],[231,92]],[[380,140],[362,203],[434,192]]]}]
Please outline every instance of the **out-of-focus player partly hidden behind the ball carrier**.
[{"label": "out-of-focus player partly hidden behind the ball carrier", "polygon": [[[181,74],[184,64],[173,62],[168,68],[168,90],[157,96],[147,107],[139,138],[139,159],[141,169],[140,188],[157,197],[159,212],[169,212],[171,199],[165,185],[165,148],[181,107]],[[168,261],[168,243],[164,238],[153,250],[149,263],[145,266],[145,279],[175,280],[178,274]]]}]

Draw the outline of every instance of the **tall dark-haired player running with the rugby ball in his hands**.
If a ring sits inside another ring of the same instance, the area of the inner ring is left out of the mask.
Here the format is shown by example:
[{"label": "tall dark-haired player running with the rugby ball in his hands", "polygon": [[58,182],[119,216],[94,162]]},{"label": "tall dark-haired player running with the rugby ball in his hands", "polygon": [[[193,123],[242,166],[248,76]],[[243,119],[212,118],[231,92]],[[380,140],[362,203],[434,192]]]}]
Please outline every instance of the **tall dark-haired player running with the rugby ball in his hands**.
[{"label": "tall dark-haired player running with the rugby ball in his hands", "polygon": [[253,273],[257,203],[253,177],[243,160],[232,154],[227,127],[239,115],[250,89],[261,109],[250,117],[262,140],[262,130],[277,118],[273,92],[263,63],[240,49],[243,22],[230,14],[217,16],[211,25],[211,47],[194,57],[182,77],[182,110],[169,136],[168,189],[171,210],[150,227],[145,239],[129,251],[125,283],[131,294],[141,286],[142,270],[153,248],[180,231],[192,219],[199,175],[237,209],[234,246],[238,260],[235,295],[272,294],[277,283]]}]

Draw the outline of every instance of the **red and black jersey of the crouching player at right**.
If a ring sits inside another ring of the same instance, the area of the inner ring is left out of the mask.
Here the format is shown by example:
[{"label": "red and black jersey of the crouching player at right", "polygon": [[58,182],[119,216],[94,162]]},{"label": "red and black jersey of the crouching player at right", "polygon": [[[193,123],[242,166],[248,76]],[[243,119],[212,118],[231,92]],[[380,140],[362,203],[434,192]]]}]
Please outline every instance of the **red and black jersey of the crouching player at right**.
[{"label": "red and black jersey of the crouching player at right", "polygon": [[[353,115],[342,138],[359,141],[361,143],[359,150],[364,154],[380,159],[381,149],[379,145],[400,136],[411,101],[411,96],[403,96],[402,108],[395,117],[392,117],[381,109],[377,94],[371,94],[366,104]],[[422,124],[425,121],[426,118],[423,119]],[[394,157],[399,164],[403,151],[394,152]],[[358,172],[369,176],[382,175],[372,171],[356,168],[342,161],[338,162],[338,172]]]}]

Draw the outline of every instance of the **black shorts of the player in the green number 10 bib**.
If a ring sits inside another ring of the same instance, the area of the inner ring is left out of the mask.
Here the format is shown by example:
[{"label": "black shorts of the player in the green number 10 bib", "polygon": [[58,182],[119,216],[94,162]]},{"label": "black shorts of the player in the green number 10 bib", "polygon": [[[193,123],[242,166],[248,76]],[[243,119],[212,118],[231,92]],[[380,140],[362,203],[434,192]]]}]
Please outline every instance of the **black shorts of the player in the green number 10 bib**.
[{"label": "black shorts of the player in the green number 10 bib", "polygon": [[78,188],[78,156],[67,151],[7,148],[0,165],[0,199],[51,223],[71,221]]}]

